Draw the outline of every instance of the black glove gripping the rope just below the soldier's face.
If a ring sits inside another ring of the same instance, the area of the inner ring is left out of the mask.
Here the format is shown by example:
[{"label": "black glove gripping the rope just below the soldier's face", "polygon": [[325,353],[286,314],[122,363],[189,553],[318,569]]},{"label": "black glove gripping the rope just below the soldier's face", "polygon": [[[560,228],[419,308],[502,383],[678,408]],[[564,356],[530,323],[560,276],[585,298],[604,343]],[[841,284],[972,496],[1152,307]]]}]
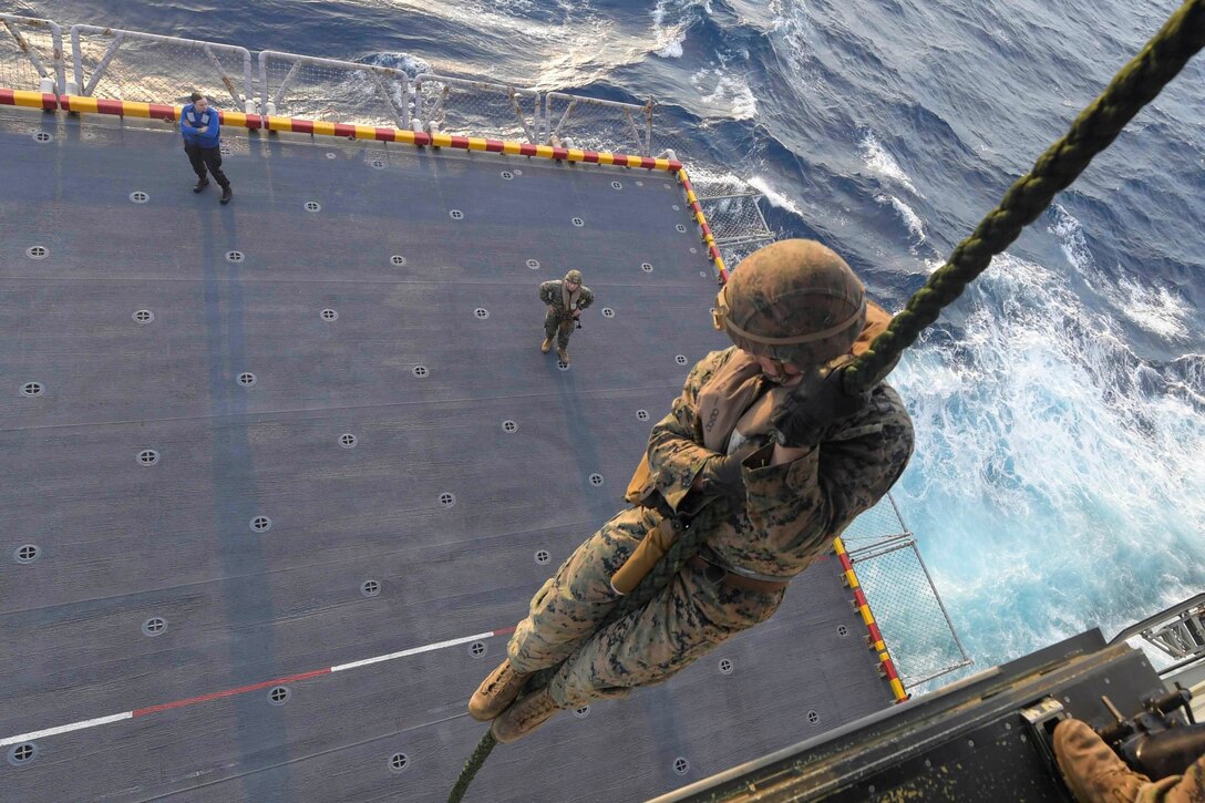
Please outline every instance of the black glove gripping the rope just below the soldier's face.
[{"label": "black glove gripping the rope just below the soldier's face", "polygon": [[853,359],[846,354],[804,374],[770,414],[776,442],[794,449],[816,446],[824,429],[866,406],[869,391],[848,395],[842,383],[842,373]]}]

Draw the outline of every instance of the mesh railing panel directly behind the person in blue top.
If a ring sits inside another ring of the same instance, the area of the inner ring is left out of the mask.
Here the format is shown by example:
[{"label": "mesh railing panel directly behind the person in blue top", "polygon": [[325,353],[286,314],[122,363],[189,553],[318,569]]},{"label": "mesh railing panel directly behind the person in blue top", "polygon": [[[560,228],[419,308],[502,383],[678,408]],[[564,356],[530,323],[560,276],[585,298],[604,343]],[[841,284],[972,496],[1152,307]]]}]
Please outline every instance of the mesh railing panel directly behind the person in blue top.
[{"label": "mesh railing panel directly behind the person in blue top", "polygon": [[237,111],[253,98],[251,52],[235,45],[72,25],[71,58],[67,94],[181,104],[200,92],[214,106]]}]

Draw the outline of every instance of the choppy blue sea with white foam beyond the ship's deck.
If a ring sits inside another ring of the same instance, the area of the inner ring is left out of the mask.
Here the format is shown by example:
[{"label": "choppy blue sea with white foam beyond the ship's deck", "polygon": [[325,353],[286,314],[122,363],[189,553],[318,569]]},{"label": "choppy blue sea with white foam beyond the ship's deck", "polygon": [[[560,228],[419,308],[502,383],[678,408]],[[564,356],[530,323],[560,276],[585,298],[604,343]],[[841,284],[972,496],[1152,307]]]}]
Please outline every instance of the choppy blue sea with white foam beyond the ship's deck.
[{"label": "choppy blue sea with white foam beyond the ship's deck", "polygon": [[[771,199],[892,309],[1176,4],[52,0],[18,11],[659,104],[662,146]],[[1205,59],[893,382],[897,487],[988,666],[1205,590]]]}]

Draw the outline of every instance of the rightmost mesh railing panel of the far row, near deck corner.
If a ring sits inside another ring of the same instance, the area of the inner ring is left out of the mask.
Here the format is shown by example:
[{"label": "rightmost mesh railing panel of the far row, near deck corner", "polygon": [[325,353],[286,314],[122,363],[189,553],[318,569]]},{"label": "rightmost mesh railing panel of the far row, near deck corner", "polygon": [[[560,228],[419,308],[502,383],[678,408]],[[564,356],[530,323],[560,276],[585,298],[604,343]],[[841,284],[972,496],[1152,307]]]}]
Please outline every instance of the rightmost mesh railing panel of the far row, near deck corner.
[{"label": "rightmost mesh railing panel of the far row, near deck corner", "polygon": [[643,106],[560,92],[545,95],[549,145],[589,151],[653,154],[653,101]]}]

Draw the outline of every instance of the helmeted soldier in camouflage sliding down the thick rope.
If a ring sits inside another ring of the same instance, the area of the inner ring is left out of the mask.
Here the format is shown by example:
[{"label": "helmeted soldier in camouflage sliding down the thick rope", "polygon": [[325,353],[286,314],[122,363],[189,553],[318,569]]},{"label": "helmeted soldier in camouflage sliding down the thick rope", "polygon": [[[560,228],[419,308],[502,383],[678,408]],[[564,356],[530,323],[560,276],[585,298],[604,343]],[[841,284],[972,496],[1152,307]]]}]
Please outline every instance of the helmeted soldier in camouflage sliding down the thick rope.
[{"label": "helmeted soldier in camouflage sliding down the thick rope", "polygon": [[[745,259],[716,301],[716,326],[736,345],[687,376],[649,435],[628,488],[633,506],[535,594],[469,713],[515,742],[562,708],[663,681],[769,619],[790,579],[887,493],[912,455],[895,391],[880,382],[847,395],[834,370],[888,321],[818,242],[776,242]],[[699,553],[643,608],[600,628],[686,526],[701,537]],[[562,662],[547,687],[511,704],[530,673]]]}]

